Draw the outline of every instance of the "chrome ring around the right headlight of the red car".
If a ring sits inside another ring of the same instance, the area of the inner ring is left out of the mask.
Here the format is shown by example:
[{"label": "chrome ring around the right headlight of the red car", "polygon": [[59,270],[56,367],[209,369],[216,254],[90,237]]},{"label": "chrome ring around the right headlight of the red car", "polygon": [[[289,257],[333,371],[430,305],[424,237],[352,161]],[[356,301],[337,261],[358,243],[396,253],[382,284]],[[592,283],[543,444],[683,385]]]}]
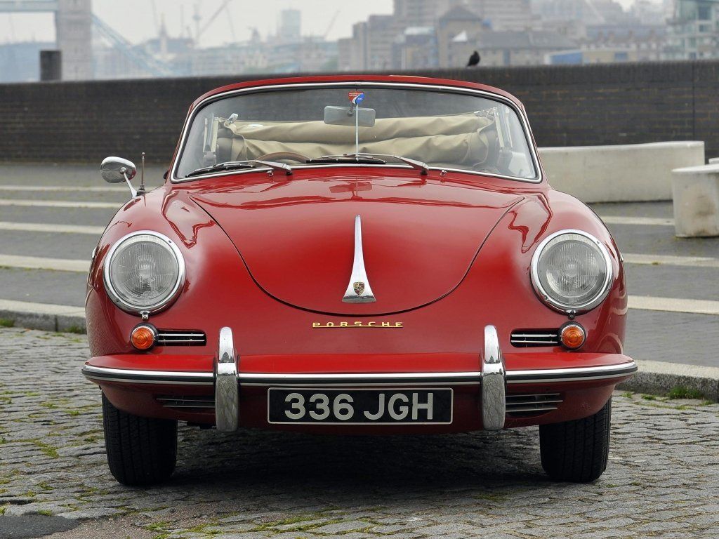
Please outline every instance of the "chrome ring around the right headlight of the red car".
[{"label": "chrome ring around the right headlight of the red car", "polygon": [[[562,300],[553,297],[546,290],[546,287],[542,285],[541,279],[539,278],[539,262],[541,261],[544,249],[546,249],[546,247],[551,241],[554,241],[559,236],[563,236],[565,234],[578,235],[587,239],[592,245],[592,247],[596,247],[597,250],[600,252],[601,259],[603,260],[606,267],[604,280],[601,283],[601,286],[597,289],[597,292],[595,292],[595,295],[593,295],[592,298],[590,298],[589,300],[586,300],[585,302],[578,305],[571,305],[567,302],[562,302]],[[587,311],[597,307],[597,305],[600,305],[600,303],[602,303],[609,294],[609,290],[611,289],[611,284],[613,282],[614,270],[609,251],[601,241],[592,236],[592,234],[589,234],[588,232],[582,230],[564,229],[554,232],[554,234],[550,234],[537,246],[534,251],[534,254],[532,255],[530,275],[531,282],[536,294],[550,308],[558,310],[561,313],[572,313],[572,311],[574,313],[586,313]]]}]

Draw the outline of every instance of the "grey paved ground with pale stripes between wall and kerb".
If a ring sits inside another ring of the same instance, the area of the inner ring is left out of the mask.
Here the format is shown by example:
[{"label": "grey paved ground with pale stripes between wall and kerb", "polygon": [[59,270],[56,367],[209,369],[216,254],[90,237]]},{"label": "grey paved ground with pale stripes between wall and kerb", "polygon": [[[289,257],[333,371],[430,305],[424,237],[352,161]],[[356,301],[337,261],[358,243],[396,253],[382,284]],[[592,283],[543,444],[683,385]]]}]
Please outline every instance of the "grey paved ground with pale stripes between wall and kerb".
[{"label": "grey paved ground with pale stripes between wall and kerb", "polygon": [[[89,259],[101,230],[128,197],[124,185],[104,183],[98,169],[0,165],[0,303],[83,305],[84,272],[28,269],[14,257]],[[147,185],[160,185],[163,171],[148,167]],[[57,206],[73,203],[107,207]],[[671,203],[594,208],[606,218],[624,254],[630,295],[664,298],[658,310],[657,305],[653,310],[646,305],[630,309],[626,353],[638,359],[719,366],[713,345],[719,341],[719,318],[705,314],[707,306],[719,313],[719,239],[675,238]],[[68,231],[63,226],[81,228]]]}]

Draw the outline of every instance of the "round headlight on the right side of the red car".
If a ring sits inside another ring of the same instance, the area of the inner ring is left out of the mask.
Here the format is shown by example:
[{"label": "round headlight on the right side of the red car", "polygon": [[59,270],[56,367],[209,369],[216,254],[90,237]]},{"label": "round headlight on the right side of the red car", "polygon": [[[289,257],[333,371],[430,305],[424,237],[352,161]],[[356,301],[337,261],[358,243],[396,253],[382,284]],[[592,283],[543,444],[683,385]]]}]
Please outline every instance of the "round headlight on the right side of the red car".
[{"label": "round headlight on the right side of the red car", "polygon": [[595,308],[609,293],[612,260],[591,234],[563,230],[539,244],[532,257],[531,279],[551,307],[577,313]]}]

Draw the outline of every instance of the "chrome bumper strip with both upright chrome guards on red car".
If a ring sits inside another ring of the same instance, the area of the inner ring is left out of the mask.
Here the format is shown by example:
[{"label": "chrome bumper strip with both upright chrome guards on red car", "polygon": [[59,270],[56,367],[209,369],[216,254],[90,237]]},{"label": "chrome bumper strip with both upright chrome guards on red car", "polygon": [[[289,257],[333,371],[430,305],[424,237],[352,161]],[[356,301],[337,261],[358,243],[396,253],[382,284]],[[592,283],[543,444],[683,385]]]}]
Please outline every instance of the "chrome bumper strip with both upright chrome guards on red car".
[{"label": "chrome bumper strip with both upright chrome guards on red car", "polygon": [[111,369],[85,365],[83,374],[95,382],[125,382],[132,384],[214,385],[215,414],[218,430],[237,430],[239,425],[239,388],[243,386],[273,387],[383,387],[438,384],[480,385],[482,392],[482,424],[485,430],[504,428],[507,384],[541,382],[581,382],[585,380],[626,377],[636,372],[634,361],[600,367],[570,367],[566,369],[505,369],[495,326],[485,327],[485,350],[480,370],[470,372],[393,372],[393,373],[335,373],[284,374],[240,372],[239,356],[234,346],[232,330],[220,330],[218,354],[213,372],[168,372],[132,369]]}]

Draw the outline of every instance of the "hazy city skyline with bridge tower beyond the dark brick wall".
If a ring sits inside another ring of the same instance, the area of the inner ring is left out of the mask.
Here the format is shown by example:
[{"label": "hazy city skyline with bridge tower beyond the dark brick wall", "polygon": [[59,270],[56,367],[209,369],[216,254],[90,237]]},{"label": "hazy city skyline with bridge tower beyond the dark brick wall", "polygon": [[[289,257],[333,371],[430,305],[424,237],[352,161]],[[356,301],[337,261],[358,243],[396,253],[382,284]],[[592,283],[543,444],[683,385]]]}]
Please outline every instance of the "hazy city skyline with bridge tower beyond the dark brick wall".
[{"label": "hazy city skyline with bridge tower beyond the dark brick wall", "polygon": [[[369,14],[336,41],[327,34],[339,10],[311,34],[301,9],[237,40],[232,1],[196,4],[194,24],[174,32],[155,13],[155,37],[137,43],[96,17],[91,0],[0,0],[0,13],[52,11],[57,29],[55,43],[0,44],[0,80],[37,80],[40,49],[62,52],[70,80],[461,68],[475,50],[480,67],[719,57],[719,0],[393,0],[391,14]],[[199,46],[220,21],[232,38]]]}]

